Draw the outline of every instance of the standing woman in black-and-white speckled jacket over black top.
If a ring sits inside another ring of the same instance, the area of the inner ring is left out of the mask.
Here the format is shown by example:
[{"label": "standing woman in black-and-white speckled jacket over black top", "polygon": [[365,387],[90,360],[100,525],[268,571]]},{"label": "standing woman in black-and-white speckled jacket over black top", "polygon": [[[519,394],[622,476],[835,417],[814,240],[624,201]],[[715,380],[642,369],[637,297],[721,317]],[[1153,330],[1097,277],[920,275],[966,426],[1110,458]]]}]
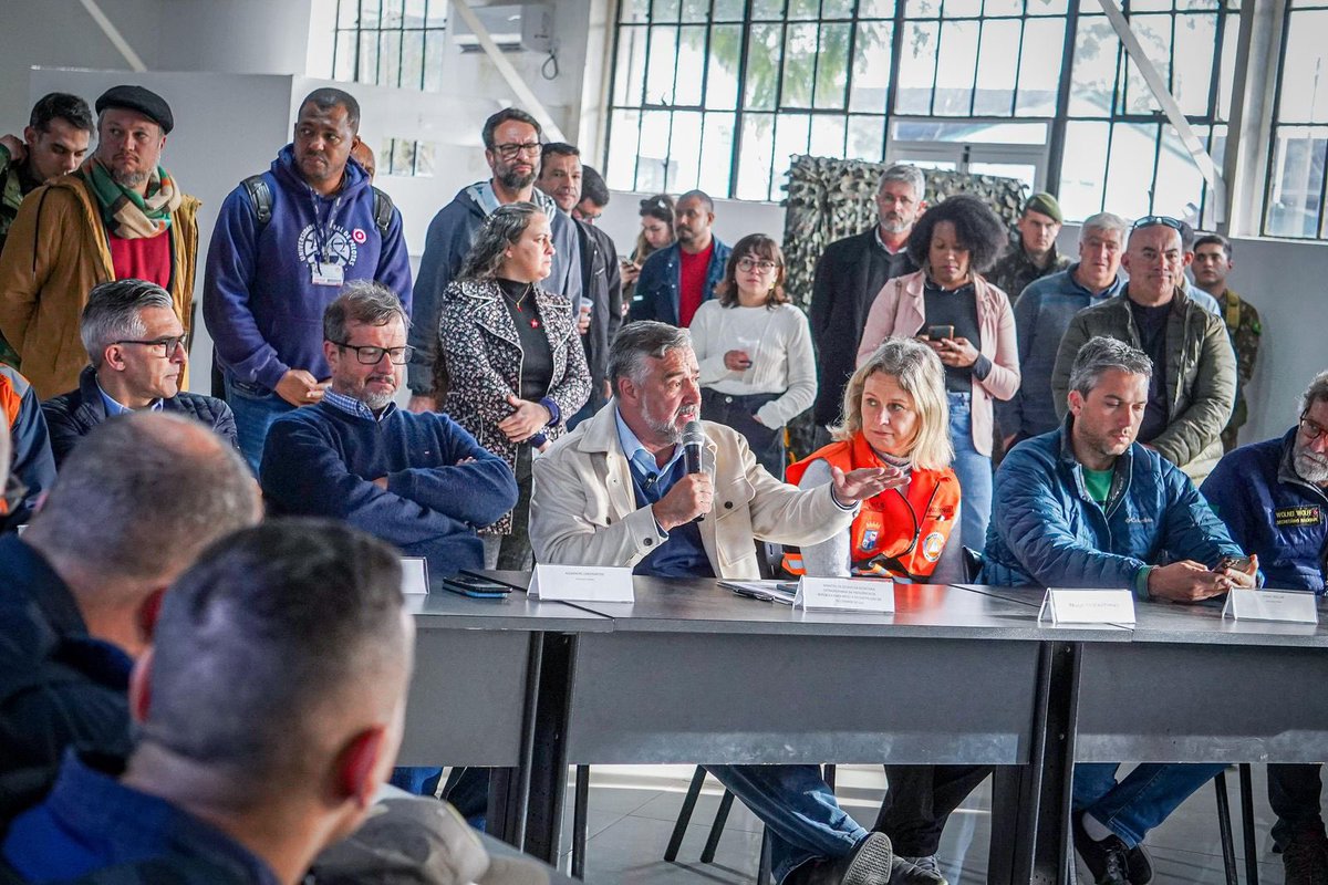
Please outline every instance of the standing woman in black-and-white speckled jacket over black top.
[{"label": "standing woman in black-and-white speckled jacket over black top", "polygon": [[590,395],[572,305],[539,285],[552,259],[544,211],[499,206],[448,287],[438,320],[434,389],[444,411],[517,475],[515,510],[479,532],[486,568],[530,568],[533,450],[562,435],[563,419]]}]

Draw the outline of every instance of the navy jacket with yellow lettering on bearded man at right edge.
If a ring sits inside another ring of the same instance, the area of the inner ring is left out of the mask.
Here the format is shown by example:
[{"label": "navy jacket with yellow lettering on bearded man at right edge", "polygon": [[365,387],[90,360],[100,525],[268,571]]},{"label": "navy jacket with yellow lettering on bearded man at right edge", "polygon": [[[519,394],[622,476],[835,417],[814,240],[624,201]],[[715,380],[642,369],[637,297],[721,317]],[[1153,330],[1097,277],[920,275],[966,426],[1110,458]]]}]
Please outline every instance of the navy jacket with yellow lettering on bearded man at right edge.
[{"label": "navy jacket with yellow lettering on bearded man at right edge", "polygon": [[1242,446],[1218,462],[1199,491],[1231,537],[1259,556],[1266,586],[1324,592],[1328,494],[1296,474],[1296,429]]}]

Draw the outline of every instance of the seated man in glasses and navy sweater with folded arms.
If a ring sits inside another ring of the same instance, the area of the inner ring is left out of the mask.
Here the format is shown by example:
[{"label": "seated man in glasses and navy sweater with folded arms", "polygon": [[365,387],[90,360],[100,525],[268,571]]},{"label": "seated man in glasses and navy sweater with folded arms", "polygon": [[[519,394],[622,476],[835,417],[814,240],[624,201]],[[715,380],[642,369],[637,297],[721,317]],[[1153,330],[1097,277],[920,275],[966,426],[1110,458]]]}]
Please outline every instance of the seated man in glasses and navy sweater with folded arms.
[{"label": "seated man in glasses and navy sweater with folded arms", "polygon": [[259,478],[275,513],[331,516],[424,556],[430,575],[483,567],[475,529],[517,503],[497,455],[441,413],[392,402],[413,348],[380,283],[348,283],[323,314],[332,379],[321,402],[272,423]]}]

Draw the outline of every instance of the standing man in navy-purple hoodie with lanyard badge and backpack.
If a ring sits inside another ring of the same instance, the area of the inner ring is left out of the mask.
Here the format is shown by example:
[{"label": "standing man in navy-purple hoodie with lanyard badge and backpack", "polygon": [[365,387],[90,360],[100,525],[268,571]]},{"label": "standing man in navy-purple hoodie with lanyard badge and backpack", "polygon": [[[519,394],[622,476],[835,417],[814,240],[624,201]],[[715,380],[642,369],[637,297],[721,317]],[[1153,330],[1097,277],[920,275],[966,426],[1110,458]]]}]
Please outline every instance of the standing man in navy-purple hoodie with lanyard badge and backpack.
[{"label": "standing man in navy-purple hoodie with lanyard badge and backpack", "polygon": [[230,192],[212,231],[203,320],[255,472],[272,421],[323,398],[323,310],[341,287],[381,283],[410,312],[401,212],[351,159],[359,129],[355,97],[309,93],[293,141]]}]

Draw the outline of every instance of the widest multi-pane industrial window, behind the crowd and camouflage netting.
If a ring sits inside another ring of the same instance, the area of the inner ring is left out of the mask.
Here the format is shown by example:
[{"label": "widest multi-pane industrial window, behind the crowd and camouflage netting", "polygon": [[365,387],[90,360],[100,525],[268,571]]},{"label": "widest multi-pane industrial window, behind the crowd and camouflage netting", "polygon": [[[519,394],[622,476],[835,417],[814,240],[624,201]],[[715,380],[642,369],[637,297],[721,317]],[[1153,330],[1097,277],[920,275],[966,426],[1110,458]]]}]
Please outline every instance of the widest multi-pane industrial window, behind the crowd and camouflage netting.
[{"label": "widest multi-pane industrial window, behind the crowd and camouflage netting", "polygon": [[[1226,3],[1125,4],[1219,167],[1239,28]],[[612,187],[776,200],[802,153],[1037,186],[1058,172],[1070,218],[1110,192],[1105,208],[1122,215],[1212,222],[1208,188],[1096,0],[622,0]]]}]

